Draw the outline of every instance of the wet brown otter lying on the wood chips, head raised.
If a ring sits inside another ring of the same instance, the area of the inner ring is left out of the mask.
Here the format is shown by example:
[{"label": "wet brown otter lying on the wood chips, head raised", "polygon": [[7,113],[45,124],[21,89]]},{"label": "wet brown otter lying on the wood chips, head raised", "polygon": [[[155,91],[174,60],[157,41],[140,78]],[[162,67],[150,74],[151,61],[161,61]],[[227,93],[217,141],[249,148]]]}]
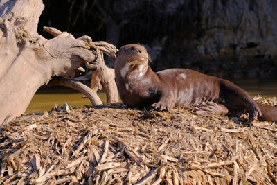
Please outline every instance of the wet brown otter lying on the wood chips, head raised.
[{"label": "wet brown otter lying on the wood chips, head raised", "polygon": [[116,52],[118,93],[129,107],[172,109],[197,105],[199,114],[249,113],[250,121],[277,121],[277,107],[256,103],[244,89],[229,80],[190,69],[166,69],[154,73],[144,46],[128,44]]}]

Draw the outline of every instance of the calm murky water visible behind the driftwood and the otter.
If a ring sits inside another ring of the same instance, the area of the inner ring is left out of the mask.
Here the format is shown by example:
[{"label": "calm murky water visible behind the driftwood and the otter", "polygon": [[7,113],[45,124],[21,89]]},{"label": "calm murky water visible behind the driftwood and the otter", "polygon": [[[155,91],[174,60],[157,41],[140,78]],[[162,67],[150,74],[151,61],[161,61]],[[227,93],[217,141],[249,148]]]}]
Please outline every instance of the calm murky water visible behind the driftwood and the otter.
[{"label": "calm murky water visible behind the driftwood and the otter", "polygon": [[[249,92],[251,96],[260,95],[263,97],[277,96],[277,79],[235,79],[231,80],[236,85],[242,87]],[[72,107],[84,107],[91,105],[88,98],[82,98],[83,94],[66,87],[48,87],[39,89],[33,97],[26,112],[44,112],[49,111],[57,104],[62,105],[69,103]],[[103,103],[106,102],[104,92],[100,92],[99,96]]]}]

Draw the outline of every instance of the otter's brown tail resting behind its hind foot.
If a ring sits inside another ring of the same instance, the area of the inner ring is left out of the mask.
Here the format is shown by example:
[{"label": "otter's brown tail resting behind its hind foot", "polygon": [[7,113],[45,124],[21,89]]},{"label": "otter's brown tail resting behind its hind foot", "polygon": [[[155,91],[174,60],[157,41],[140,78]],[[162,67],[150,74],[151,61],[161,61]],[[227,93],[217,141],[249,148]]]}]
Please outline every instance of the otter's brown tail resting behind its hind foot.
[{"label": "otter's brown tail resting behind its hind foot", "polygon": [[272,121],[277,122],[277,107],[265,105],[263,103],[258,103],[260,107],[260,111],[262,112],[262,116],[258,117],[260,121]]}]

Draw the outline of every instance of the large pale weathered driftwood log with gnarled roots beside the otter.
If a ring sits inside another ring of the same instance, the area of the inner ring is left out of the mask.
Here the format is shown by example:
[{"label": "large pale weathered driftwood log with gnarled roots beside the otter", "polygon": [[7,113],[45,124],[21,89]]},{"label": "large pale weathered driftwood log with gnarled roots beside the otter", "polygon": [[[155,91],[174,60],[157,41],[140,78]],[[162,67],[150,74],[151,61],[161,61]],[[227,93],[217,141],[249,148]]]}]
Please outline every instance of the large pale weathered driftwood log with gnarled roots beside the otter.
[{"label": "large pale weathered driftwood log with gnarled roots beside the otter", "polygon": [[[61,78],[52,84],[78,89],[92,104],[102,104],[96,94],[100,82],[107,103],[118,101],[114,71],[102,57],[104,52],[115,58],[116,47],[44,27],[54,36],[47,40],[37,33],[42,10],[42,0],[0,1],[0,125],[23,114],[37,89],[53,76]],[[92,89],[74,79],[82,67],[92,69]]]}]

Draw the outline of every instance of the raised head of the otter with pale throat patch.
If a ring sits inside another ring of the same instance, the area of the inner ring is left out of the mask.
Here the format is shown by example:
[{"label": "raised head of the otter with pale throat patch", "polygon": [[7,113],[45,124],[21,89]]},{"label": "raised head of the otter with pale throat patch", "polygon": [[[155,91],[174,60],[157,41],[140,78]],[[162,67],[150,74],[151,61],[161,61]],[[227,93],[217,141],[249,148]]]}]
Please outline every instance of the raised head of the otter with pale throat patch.
[{"label": "raised head of the otter with pale throat patch", "polygon": [[149,56],[145,47],[139,44],[128,44],[116,52],[115,69],[120,71],[122,78],[125,78],[126,74],[132,71],[134,71],[134,76],[138,78],[143,76],[147,70],[148,59]]}]

